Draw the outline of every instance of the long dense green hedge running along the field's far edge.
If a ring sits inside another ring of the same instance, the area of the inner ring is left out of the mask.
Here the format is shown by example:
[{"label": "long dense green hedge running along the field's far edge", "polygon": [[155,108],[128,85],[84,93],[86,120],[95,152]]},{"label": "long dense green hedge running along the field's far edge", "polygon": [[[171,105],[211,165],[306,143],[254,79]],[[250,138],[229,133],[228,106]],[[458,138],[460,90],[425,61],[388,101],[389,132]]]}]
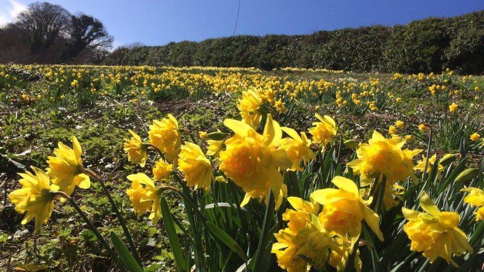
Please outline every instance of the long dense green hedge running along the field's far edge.
[{"label": "long dense green hedge running along the field's far edge", "polygon": [[484,11],[311,35],[236,36],[120,48],[107,64],[327,68],[360,72],[484,72]]}]

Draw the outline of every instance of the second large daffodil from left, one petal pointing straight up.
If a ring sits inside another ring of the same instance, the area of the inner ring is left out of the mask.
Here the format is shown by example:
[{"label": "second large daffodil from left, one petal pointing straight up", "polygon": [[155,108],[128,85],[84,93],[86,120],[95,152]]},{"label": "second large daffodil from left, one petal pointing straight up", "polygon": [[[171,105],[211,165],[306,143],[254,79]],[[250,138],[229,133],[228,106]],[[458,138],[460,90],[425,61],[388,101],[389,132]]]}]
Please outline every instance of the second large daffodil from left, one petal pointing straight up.
[{"label": "second large daffodil from left, one petal pointing straight up", "polygon": [[83,173],[82,149],[75,136],[72,136],[72,144],[70,148],[59,142],[59,148],[54,149],[55,156],[47,158],[47,174],[67,195],[72,194],[76,185],[81,189],[91,187],[89,176]]}]

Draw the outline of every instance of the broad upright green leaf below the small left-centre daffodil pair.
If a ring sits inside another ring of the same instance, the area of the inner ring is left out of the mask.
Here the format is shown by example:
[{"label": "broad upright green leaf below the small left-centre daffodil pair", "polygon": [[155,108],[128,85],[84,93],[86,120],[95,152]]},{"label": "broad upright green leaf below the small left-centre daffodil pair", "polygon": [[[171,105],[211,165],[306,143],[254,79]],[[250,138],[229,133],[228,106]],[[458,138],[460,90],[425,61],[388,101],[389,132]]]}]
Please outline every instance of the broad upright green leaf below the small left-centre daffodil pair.
[{"label": "broad upright green leaf below the small left-centre daffodil pair", "polygon": [[161,214],[163,215],[163,222],[167,232],[168,240],[170,241],[170,247],[172,248],[173,256],[175,257],[175,263],[177,264],[178,271],[186,271],[185,259],[182,254],[182,247],[178,240],[177,230],[173,223],[172,214],[168,210],[168,203],[164,197],[161,198]]}]

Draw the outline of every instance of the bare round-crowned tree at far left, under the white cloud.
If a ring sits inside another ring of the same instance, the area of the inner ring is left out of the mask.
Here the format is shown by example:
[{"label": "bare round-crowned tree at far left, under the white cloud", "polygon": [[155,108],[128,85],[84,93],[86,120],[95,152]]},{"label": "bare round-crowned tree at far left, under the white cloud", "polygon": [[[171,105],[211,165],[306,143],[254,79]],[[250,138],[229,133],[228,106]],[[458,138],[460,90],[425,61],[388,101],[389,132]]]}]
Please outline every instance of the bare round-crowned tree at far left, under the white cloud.
[{"label": "bare round-crowned tree at far left, under the white cloud", "polygon": [[66,31],[69,16],[60,5],[35,2],[17,16],[15,25],[32,53],[45,53]]}]

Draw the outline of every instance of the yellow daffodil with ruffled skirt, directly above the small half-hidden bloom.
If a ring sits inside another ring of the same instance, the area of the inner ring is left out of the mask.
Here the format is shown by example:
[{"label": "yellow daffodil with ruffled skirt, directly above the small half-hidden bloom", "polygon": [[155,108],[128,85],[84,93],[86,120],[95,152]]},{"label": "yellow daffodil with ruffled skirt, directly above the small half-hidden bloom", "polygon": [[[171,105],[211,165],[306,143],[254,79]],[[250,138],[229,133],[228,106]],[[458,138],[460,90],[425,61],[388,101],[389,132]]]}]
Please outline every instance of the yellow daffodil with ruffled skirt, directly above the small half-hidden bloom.
[{"label": "yellow daffodil with ruffled skirt, directly above the small half-hidden bloom", "polygon": [[169,162],[173,162],[180,153],[182,136],[178,131],[178,121],[172,115],[160,121],[153,120],[148,132],[150,143],[158,148]]}]

